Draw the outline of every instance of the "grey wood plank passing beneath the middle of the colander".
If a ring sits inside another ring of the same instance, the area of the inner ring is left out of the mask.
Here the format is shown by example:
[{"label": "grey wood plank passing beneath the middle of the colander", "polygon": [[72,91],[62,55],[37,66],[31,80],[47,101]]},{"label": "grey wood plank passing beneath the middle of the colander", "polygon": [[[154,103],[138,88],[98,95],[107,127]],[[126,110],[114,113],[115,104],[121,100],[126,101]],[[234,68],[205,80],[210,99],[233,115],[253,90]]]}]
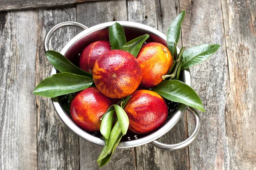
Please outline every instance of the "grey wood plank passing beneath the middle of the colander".
[{"label": "grey wood plank passing beneath the middle of the colander", "polygon": [[[127,20],[126,0],[77,4],[77,21],[90,27],[113,20]],[[81,170],[99,169],[97,159],[102,147],[80,139]],[[134,170],[134,150],[116,149],[111,161],[102,170]]]}]

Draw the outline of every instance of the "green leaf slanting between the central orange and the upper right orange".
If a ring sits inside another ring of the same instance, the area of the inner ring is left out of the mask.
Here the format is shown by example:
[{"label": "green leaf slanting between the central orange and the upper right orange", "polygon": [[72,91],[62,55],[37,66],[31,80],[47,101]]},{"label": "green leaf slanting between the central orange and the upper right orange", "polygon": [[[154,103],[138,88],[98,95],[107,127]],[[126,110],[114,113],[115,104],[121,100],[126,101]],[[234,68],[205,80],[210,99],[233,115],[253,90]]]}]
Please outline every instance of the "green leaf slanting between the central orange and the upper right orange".
[{"label": "green leaf slanting between the central orange and the upper right orange", "polygon": [[134,55],[134,57],[137,57],[141,46],[147,40],[149,37],[148,34],[142,35],[140,37],[135,38],[134,40],[131,40],[127,42],[125,45],[122,46],[121,50],[127,51]]}]

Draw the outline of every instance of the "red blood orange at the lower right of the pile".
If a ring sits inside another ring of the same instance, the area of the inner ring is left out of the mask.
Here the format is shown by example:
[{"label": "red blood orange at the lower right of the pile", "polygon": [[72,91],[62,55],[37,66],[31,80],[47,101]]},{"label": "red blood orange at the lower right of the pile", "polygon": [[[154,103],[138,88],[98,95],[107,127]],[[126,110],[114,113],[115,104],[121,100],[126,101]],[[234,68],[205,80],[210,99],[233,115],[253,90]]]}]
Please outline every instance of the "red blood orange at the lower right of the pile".
[{"label": "red blood orange at the lower right of the pile", "polygon": [[151,133],[167,119],[168,106],[154,91],[137,90],[124,108],[129,118],[129,129],[137,134]]}]

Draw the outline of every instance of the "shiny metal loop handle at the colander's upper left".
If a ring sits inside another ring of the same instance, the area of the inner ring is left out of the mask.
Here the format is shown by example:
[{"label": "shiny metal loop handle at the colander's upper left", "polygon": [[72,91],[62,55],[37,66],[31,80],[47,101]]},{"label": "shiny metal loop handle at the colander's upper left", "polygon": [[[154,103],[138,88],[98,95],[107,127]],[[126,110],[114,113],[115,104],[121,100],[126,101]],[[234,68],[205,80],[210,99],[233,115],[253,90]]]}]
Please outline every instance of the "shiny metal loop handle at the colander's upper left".
[{"label": "shiny metal loop handle at the colander's upper left", "polygon": [[55,33],[55,31],[57,31],[58,29],[63,28],[63,27],[67,27],[67,26],[75,26],[75,27],[81,28],[83,30],[88,28],[87,26],[84,26],[83,24],[75,22],[75,21],[66,21],[66,22],[59,23],[59,24],[55,25],[54,27],[52,27],[52,29],[50,29],[50,31],[47,33],[47,35],[44,38],[44,52],[45,52],[45,54],[46,54],[46,51],[49,50],[49,41],[50,41],[50,38],[52,37],[52,34]]}]

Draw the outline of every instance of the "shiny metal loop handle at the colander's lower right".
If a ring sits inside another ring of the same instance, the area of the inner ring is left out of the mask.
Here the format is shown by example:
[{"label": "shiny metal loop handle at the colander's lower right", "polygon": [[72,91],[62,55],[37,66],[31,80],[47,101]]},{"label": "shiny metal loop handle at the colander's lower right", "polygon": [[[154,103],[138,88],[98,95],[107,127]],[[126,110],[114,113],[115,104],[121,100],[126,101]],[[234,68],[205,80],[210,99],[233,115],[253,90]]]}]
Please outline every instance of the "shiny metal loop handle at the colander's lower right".
[{"label": "shiny metal loop handle at the colander's lower right", "polygon": [[195,140],[195,138],[198,136],[198,133],[200,132],[201,119],[200,119],[200,116],[198,115],[198,113],[195,111],[194,108],[191,108],[191,107],[188,106],[187,111],[189,111],[195,118],[195,128],[194,128],[192,134],[189,136],[188,139],[186,139],[183,142],[180,142],[178,144],[163,144],[163,143],[158,142],[158,141],[153,141],[150,144],[152,144],[154,147],[157,147],[161,150],[169,150],[169,151],[179,150],[179,149],[182,149],[182,148],[185,148],[185,147],[189,146],[189,144],[191,144]]}]

